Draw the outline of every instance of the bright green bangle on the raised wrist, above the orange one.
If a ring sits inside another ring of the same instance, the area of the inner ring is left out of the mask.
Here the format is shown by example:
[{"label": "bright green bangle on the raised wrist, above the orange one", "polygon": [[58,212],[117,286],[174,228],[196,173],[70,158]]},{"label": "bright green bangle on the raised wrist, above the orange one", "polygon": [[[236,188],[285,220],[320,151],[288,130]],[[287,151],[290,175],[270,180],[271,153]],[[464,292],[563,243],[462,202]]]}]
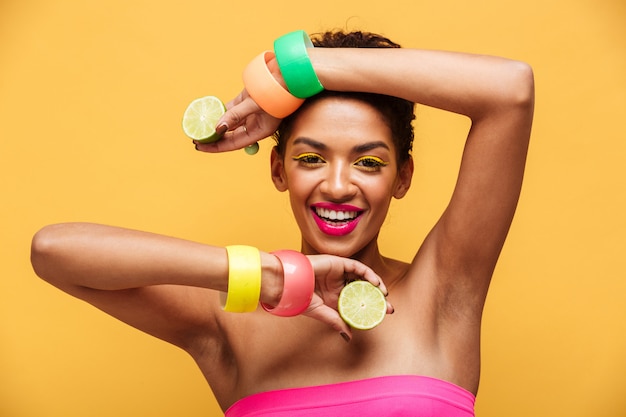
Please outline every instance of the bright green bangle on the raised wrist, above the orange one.
[{"label": "bright green bangle on the raised wrist, above the orange one", "polygon": [[276,61],[287,89],[298,98],[308,98],[324,90],[307,48],[313,48],[313,42],[303,30],[288,33],[274,41]]}]

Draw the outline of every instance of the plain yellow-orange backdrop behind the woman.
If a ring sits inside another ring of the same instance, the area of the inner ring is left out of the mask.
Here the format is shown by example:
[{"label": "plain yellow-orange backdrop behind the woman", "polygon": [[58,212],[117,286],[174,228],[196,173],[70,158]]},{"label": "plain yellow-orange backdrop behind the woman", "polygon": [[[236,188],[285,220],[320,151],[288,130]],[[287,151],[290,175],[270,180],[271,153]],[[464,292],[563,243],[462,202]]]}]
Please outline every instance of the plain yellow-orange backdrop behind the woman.
[{"label": "plain yellow-orange backdrop behind the woman", "polygon": [[[277,36],[347,27],[529,62],[536,118],[484,320],[480,416],[626,415],[623,0],[0,1],[0,416],[217,416],[184,353],[33,274],[32,234],[93,221],[297,248],[255,157],[196,153],[193,98],[229,99]],[[332,127],[329,127],[332,128]],[[420,109],[409,196],[383,230],[410,259],[451,192],[467,121]]]}]

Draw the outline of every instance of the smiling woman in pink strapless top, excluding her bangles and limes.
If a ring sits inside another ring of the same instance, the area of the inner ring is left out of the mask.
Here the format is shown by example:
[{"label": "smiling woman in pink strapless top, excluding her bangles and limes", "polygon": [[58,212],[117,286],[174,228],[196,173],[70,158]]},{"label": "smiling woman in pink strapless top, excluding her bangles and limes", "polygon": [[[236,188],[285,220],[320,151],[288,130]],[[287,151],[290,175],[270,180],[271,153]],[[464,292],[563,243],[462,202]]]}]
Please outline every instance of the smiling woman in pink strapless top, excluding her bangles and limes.
[{"label": "smiling woman in pink strapless top, excluding her bangles and limes", "polygon": [[[308,48],[308,59],[324,91],[281,120],[247,86],[218,124],[223,138],[196,143],[230,151],[278,129],[272,180],[289,192],[315,274],[304,314],[224,312],[224,248],[137,231],[46,227],[33,240],[34,268],[186,350],[229,416],[473,415],[482,310],[522,184],[532,71],[502,58],[400,49],[361,32],[314,42],[322,47]],[[289,89],[280,62],[270,56],[267,66]],[[381,254],[377,237],[391,199],[411,183],[413,102],[472,124],[451,201],[409,264]],[[271,310],[286,275],[276,256],[260,257],[260,301]],[[351,331],[336,311],[346,275],[379,285],[394,314]]]}]

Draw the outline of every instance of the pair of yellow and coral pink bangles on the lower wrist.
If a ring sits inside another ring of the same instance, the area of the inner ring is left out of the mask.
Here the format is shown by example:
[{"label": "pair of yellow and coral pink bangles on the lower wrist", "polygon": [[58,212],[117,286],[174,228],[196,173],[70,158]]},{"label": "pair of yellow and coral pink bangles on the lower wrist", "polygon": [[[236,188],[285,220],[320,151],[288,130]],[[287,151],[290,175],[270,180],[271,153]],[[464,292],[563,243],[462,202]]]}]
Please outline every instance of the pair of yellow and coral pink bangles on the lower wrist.
[{"label": "pair of yellow and coral pink bangles on the lower wrist", "polygon": [[[261,295],[261,256],[252,246],[227,246],[228,294],[224,311],[247,313],[255,311]],[[300,252],[272,252],[283,266],[283,293],[275,307],[261,303],[269,313],[282,317],[297,316],[311,304],[315,289],[315,272],[309,259]]]}]

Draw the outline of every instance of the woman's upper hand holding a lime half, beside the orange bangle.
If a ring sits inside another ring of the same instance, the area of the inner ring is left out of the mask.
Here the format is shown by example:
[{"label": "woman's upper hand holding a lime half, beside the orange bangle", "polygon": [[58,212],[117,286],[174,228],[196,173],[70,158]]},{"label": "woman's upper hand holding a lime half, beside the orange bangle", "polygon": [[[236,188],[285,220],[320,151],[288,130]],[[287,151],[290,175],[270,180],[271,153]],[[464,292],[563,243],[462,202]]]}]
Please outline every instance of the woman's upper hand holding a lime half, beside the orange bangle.
[{"label": "woman's upper hand holding a lime half, beside the orange bangle", "polygon": [[245,89],[226,103],[226,109],[216,127],[222,137],[212,143],[194,141],[197,150],[216,153],[245,148],[271,136],[281,121],[264,112]]}]

